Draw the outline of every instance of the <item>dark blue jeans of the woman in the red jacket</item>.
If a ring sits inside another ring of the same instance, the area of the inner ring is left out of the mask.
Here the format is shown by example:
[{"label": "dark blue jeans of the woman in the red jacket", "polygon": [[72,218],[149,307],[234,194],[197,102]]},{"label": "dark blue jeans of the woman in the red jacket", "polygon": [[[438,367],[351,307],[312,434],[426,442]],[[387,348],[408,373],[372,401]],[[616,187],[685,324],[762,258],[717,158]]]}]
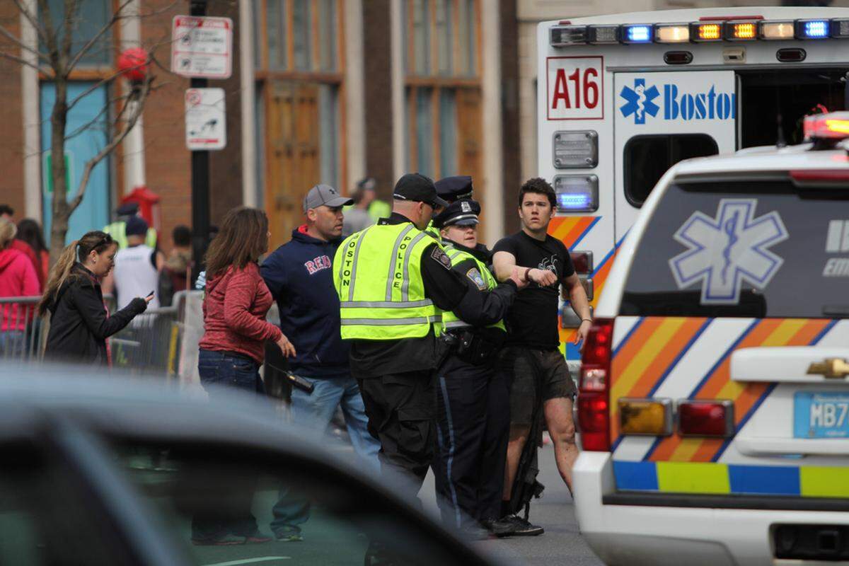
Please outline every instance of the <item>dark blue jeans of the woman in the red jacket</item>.
[{"label": "dark blue jeans of the woman in the red jacket", "polygon": [[[211,399],[227,400],[232,388],[264,393],[259,374],[259,364],[253,360],[230,356],[214,350],[200,350],[198,354],[200,383]],[[192,539],[216,541],[222,536],[256,535],[256,518],[250,511],[254,501],[257,476],[246,472],[232,490],[222,494],[221,509],[216,512],[195,513],[192,518]]]}]

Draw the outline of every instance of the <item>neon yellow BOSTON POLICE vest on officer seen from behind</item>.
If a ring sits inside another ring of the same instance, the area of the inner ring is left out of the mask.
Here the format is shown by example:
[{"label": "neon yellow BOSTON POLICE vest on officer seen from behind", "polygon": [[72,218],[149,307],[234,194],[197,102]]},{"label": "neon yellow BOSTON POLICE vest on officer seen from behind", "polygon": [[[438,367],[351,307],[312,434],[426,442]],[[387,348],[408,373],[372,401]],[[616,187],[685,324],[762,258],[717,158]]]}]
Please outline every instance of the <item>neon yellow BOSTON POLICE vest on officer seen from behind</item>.
[{"label": "neon yellow BOSTON POLICE vest on officer seen from behind", "polygon": [[424,296],[421,258],[433,239],[410,222],[374,225],[336,251],[342,339],[396,340],[442,332],[442,311]]}]

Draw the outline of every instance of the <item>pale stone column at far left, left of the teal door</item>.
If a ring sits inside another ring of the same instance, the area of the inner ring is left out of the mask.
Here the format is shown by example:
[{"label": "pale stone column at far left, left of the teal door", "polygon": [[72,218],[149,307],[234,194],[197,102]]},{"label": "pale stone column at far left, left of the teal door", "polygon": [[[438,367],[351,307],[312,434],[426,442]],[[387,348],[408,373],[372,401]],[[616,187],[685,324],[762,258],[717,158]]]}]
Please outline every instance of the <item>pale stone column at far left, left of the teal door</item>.
[{"label": "pale stone column at far left, left of the teal door", "polygon": [[[24,0],[25,9],[36,14],[36,0]],[[36,29],[24,14],[20,14],[20,38],[28,48],[38,48]],[[38,64],[38,57],[25,49],[20,56],[31,64]],[[25,64],[20,66],[21,81],[21,124],[24,126],[24,210],[25,215],[37,221],[42,216],[42,148],[41,117],[38,115],[38,71]]]}]

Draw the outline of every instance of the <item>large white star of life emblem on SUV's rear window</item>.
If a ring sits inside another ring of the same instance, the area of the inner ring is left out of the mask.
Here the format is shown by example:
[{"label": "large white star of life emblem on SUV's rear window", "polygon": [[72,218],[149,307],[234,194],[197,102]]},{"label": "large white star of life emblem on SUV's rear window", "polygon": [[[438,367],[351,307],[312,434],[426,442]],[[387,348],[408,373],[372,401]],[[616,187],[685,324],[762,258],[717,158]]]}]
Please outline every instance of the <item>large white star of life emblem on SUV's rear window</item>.
[{"label": "large white star of life emblem on SUV's rear window", "polygon": [[784,263],[768,248],[789,234],[772,211],[755,218],[757,199],[722,199],[717,216],[694,212],[673,236],[687,251],[669,261],[678,289],[701,283],[701,304],[737,305],[743,283],[766,288]]}]

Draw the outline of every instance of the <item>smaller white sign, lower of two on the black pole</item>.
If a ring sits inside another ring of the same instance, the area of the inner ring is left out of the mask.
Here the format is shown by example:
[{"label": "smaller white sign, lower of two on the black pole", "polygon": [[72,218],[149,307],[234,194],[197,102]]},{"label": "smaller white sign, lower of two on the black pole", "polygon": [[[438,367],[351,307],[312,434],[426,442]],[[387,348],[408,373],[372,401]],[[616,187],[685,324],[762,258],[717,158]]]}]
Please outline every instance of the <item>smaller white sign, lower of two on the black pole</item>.
[{"label": "smaller white sign, lower of two on the black pole", "polygon": [[192,151],[224,149],[227,122],[223,88],[186,91],[186,147]]}]

